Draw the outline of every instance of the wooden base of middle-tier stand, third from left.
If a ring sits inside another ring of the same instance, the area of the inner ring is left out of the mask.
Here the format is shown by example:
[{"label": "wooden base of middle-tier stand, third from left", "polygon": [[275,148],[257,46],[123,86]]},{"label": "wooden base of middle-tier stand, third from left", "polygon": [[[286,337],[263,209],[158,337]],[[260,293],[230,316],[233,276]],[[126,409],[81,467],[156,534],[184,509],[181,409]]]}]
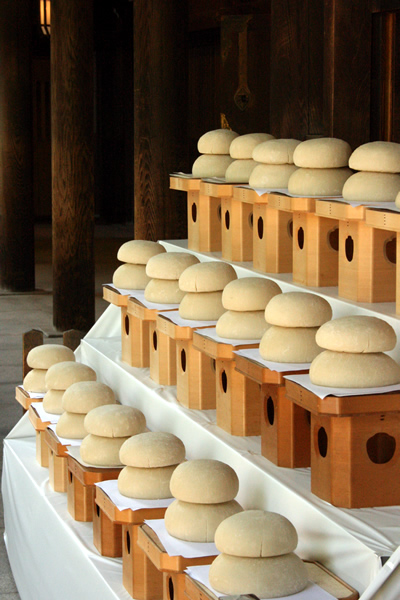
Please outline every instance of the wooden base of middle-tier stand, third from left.
[{"label": "wooden base of middle-tier stand, third from left", "polygon": [[178,401],[195,410],[216,407],[215,360],[193,347],[192,340],[176,340]]}]

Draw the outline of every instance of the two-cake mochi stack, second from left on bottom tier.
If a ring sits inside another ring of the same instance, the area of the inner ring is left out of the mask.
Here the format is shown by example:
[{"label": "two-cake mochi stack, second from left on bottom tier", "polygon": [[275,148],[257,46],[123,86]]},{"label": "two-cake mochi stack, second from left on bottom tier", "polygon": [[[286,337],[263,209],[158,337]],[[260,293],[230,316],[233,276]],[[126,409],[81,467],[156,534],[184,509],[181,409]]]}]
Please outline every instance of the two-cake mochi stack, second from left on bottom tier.
[{"label": "two-cake mochi stack, second from left on bottom tier", "polygon": [[63,361],[51,366],[45,377],[47,392],[43,398],[44,410],[61,415],[64,412],[64,392],[78,381],[96,381],[96,372],[87,365],[73,361]]}]

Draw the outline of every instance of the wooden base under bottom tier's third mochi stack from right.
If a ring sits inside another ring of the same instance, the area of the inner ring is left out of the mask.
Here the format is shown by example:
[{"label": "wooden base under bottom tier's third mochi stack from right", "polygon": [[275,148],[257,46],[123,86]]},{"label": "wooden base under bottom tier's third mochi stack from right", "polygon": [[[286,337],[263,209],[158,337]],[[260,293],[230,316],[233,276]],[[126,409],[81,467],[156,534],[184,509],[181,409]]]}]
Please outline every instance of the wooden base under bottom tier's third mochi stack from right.
[{"label": "wooden base under bottom tier's third mochi stack from right", "polygon": [[122,583],[136,600],[161,600],[163,577],[137,544],[139,525],[122,526]]}]

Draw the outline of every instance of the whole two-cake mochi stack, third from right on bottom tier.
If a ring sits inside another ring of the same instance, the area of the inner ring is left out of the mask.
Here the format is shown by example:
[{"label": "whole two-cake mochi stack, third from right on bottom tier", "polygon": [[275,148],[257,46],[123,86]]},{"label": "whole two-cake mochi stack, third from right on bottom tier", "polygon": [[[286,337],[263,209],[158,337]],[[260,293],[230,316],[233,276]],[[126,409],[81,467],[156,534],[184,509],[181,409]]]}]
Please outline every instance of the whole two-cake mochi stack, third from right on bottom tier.
[{"label": "whole two-cake mochi stack, third from right on bottom tier", "polygon": [[118,491],[128,498],[171,498],[172,473],[185,460],[185,446],[163,431],[139,433],[121,446],[120,462],[126,465],[118,476]]}]

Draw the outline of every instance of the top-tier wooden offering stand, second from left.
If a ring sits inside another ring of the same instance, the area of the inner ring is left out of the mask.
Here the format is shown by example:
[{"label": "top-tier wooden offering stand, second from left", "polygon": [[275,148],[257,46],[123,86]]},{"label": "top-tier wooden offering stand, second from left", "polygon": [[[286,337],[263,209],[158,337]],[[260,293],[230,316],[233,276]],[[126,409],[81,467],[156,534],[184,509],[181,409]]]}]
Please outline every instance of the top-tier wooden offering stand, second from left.
[{"label": "top-tier wooden offering stand, second from left", "polygon": [[201,192],[221,205],[221,253],[230,261],[253,259],[253,207],[234,198],[231,183],[202,181]]}]

